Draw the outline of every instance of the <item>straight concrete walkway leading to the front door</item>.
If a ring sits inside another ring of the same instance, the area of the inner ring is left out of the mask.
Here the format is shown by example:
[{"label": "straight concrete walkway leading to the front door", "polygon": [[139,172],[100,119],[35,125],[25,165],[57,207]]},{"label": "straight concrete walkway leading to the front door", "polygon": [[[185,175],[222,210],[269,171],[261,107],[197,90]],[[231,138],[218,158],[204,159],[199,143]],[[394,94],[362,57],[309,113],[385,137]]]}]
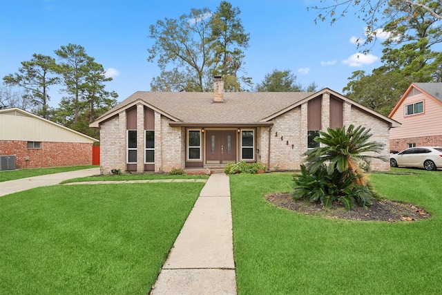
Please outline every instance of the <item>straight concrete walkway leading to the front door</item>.
[{"label": "straight concrete walkway leading to the front door", "polygon": [[236,294],[229,177],[212,174],[151,295]]}]

